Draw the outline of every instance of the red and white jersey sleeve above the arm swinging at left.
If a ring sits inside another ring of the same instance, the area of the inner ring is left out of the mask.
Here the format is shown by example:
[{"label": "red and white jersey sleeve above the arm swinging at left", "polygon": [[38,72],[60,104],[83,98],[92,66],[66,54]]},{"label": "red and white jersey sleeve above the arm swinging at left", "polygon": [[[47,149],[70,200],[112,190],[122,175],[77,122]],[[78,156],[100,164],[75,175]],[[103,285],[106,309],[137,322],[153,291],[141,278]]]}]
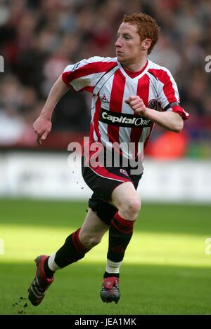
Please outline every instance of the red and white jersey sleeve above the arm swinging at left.
[{"label": "red and white jersey sleeve above the arm swinging at left", "polygon": [[87,90],[92,93],[103,74],[115,65],[115,59],[96,56],[65,67],[62,79],[77,92]]}]

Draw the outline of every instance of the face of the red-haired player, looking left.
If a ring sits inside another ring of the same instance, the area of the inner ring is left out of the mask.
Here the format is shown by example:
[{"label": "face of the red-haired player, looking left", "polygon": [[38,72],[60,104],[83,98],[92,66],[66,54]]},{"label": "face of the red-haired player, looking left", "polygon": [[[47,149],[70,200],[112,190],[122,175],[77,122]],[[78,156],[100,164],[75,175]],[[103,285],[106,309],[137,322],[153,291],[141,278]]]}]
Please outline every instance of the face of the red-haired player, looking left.
[{"label": "face of the red-haired player, looking left", "polygon": [[124,65],[139,61],[143,56],[142,43],[136,27],[122,22],[115,42],[117,60]]}]

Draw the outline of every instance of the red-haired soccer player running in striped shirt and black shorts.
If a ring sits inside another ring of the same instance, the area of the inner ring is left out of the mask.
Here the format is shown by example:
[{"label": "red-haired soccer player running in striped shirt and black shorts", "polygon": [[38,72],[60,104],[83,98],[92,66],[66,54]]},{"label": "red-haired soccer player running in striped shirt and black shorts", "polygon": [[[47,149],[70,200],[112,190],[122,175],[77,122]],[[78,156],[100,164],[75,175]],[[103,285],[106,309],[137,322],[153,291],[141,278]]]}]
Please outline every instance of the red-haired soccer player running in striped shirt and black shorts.
[{"label": "red-haired soccer player running in striped shirt and black shorts", "polygon": [[[70,234],[56,253],[40,255],[35,260],[37,271],[29,288],[33,305],[43,300],[55,271],[82,259],[108,230],[101,299],[116,303],[120,299],[120,265],[141,208],[136,189],[143,173],[143,149],[155,123],[179,133],[188,119],[179,105],[177,84],[170,71],[148,60],[158,34],[159,27],[151,16],[124,15],[117,31],[116,57],[93,57],[68,65],[34,122],[41,145],[51,131],[51,114],[60,98],[70,88],[76,92],[87,90],[92,93],[90,145],[96,143],[103,146],[104,153],[109,149],[110,154],[118,154],[120,163],[107,166],[91,162],[96,151],[85,147],[82,175],[93,190],[89,210],[82,227]],[[133,159],[136,167],[130,161],[125,166],[124,159]]]}]

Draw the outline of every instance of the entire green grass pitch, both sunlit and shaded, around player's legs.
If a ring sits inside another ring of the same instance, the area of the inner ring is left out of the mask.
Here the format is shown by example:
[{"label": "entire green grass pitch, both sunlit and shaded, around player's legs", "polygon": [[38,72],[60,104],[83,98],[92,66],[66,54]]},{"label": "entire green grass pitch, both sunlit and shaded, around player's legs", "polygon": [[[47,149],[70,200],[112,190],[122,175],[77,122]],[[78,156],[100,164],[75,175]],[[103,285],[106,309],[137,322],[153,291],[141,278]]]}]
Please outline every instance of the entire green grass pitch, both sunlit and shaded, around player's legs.
[{"label": "entire green grass pitch, both sunlit and shaded, around player's legs", "polygon": [[208,205],[143,203],[120,271],[118,304],[99,297],[106,234],[83,260],[57,271],[44,301],[33,307],[27,288],[34,257],[60,248],[81,226],[86,208],[82,202],[0,200],[0,314],[211,314]]}]

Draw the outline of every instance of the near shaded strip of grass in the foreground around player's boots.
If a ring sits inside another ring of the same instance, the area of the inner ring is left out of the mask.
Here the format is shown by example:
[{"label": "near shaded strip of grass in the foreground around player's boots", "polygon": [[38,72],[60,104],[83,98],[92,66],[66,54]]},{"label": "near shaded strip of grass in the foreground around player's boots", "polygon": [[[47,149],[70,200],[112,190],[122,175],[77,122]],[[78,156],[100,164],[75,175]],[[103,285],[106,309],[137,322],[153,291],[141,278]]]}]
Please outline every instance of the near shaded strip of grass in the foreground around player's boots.
[{"label": "near shaded strip of grass in the foreground around player's boots", "polygon": [[207,268],[123,264],[120,302],[103,304],[99,293],[105,265],[72,264],[56,272],[44,301],[33,307],[27,288],[34,264],[0,267],[0,314],[211,314]]}]

